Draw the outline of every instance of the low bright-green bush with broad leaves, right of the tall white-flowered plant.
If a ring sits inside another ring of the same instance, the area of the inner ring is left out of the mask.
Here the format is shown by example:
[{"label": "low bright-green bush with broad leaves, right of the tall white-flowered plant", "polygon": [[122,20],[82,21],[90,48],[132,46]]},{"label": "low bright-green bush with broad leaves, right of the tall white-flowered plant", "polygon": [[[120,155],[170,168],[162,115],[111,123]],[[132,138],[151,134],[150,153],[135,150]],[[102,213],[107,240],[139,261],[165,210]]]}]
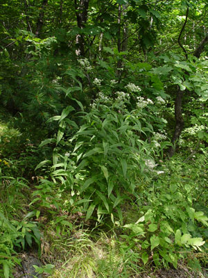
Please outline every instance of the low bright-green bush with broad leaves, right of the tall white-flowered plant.
[{"label": "low bright-green bush with broad leaves, right of the tall white-flowered plant", "polygon": [[[171,263],[177,268],[177,261],[189,258],[191,249],[206,252],[207,236],[203,231],[208,227],[208,214],[196,210],[200,209],[196,197],[201,193],[200,187],[196,188],[193,168],[181,164],[175,169],[173,163],[170,161],[166,168],[166,173],[173,171],[169,177],[157,177],[157,181],[153,179],[153,184],[144,187],[141,195],[146,204],[139,206],[139,220],[122,226],[125,233],[121,235],[125,240],[120,242],[122,252],[128,256],[129,250],[133,250],[144,265],[153,261],[157,267],[167,268]],[[184,172],[187,170],[191,179]]]}]

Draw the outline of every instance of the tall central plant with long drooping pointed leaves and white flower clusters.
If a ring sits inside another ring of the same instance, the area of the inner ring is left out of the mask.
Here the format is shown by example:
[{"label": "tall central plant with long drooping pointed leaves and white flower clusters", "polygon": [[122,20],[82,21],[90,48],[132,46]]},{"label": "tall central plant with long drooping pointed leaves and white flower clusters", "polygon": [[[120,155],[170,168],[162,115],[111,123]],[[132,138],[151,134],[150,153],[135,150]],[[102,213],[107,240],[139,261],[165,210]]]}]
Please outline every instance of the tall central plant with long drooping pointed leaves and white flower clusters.
[{"label": "tall central plant with long drooping pointed leaves and white flower clusters", "polygon": [[[51,178],[61,181],[62,186],[54,195],[55,183],[42,180],[33,194],[40,197],[33,202],[40,200],[40,204],[47,207],[52,202],[58,207],[63,190],[70,190],[68,202],[71,208],[69,206],[68,209],[86,213],[86,220],[95,212],[98,221],[103,215],[112,215],[113,219],[116,213],[122,222],[122,202],[137,198],[139,179],[146,175],[145,171],[148,172],[146,164],[153,160],[151,156],[158,153],[155,140],[161,138],[156,138],[159,133],[154,133],[153,124],[158,129],[158,126],[164,126],[164,122],[154,115],[150,99],[138,99],[137,108],[128,112],[125,106],[130,105],[129,95],[124,92],[116,94],[117,98],[110,99],[100,93],[100,98],[92,104],[92,110],[81,113],[82,125],[69,140],[73,149],[64,157],[58,153],[51,168]],[[62,126],[61,133],[58,131],[57,144],[62,142],[64,145],[61,140],[64,129],[71,124],[67,118],[71,110],[69,106],[61,116],[52,118],[59,120]],[[153,144],[148,143],[151,138],[154,139]],[[47,161],[37,167],[45,163]]]}]

